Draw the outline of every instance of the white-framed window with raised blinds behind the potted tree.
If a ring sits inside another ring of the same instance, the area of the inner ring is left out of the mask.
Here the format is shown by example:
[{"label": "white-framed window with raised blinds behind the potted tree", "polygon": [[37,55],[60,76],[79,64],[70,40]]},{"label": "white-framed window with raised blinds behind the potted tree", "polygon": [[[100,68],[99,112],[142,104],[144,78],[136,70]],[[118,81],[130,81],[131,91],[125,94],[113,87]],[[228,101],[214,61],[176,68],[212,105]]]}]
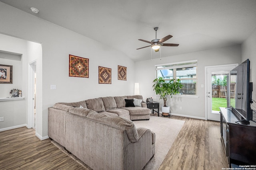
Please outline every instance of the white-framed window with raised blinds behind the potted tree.
[{"label": "white-framed window with raised blinds behind the potted tree", "polygon": [[197,94],[197,60],[185,61],[178,63],[168,63],[155,65],[156,67],[156,77],[163,77],[164,80],[170,81],[171,79],[180,79],[183,87],[180,90],[182,95],[192,95]]}]

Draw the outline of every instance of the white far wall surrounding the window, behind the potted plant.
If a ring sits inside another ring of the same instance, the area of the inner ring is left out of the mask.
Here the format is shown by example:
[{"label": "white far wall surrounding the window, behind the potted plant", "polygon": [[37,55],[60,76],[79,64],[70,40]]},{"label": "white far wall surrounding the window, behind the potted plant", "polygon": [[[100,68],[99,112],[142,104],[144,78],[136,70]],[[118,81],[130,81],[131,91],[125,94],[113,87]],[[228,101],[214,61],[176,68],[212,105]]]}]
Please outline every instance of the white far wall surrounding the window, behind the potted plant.
[{"label": "white far wall surrounding the window, behind the potted plant", "polygon": [[[150,58],[150,56],[149,56]],[[195,53],[187,53],[182,55],[164,57],[162,60],[153,59],[140,61],[135,63],[135,81],[140,83],[140,94],[144,100],[148,97],[154,97],[155,101],[159,102],[159,97],[155,96],[153,91],[153,80],[156,78],[155,64],[175,63],[180,61],[198,60],[197,68],[197,90],[198,98],[173,97],[168,98],[167,105],[170,106],[171,113],[184,115],[194,118],[205,118],[205,66],[214,66],[221,64],[241,63],[241,46],[235,45],[219,49],[207,51],[198,51]],[[201,88],[201,84],[204,88]],[[163,101],[160,100],[160,106]],[[180,106],[182,110],[180,110]]]}]

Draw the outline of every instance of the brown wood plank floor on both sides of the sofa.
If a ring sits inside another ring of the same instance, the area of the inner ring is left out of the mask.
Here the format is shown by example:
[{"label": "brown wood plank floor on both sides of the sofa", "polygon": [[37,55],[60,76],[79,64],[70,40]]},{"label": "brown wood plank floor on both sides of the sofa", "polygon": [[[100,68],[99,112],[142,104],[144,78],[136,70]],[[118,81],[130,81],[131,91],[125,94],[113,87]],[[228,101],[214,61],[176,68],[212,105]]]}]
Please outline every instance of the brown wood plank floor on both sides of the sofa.
[{"label": "brown wood plank floor on both sides of the sofa", "polygon": [[[185,123],[159,170],[228,168],[219,122],[179,116],[169,118]],[[50,139],[39,141],[35,131],[26,127],[0,132],[0,149],[1,170],[86,169],[53,145]]]}]

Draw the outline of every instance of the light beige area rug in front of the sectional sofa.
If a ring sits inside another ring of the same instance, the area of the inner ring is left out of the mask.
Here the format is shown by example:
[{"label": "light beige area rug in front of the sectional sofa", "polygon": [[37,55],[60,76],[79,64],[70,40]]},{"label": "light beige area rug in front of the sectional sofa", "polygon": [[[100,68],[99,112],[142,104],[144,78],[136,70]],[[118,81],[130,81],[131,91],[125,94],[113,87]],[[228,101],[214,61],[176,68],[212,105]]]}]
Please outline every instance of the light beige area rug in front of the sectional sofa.
[{"label": "light beige area rug in front of the sectional sofa", "polygon": [[158,170],[185,121],[151,116],[149,121],[133,122],[136,128],[146,127],[156,134],[155,155],[143,169]]}]

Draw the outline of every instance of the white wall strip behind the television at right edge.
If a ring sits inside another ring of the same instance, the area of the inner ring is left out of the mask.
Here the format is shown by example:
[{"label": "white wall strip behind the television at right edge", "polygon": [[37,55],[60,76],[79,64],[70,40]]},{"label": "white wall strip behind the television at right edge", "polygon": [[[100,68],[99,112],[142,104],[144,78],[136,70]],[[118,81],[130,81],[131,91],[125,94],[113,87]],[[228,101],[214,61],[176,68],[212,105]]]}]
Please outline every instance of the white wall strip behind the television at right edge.
[{"label": "white wall strip behind the television at right edge", "polygon": [[[252,99],[256,100],[256,29],[242,43],[242,62],[246,59],[250,60],[251,82],[253,83]],[[256,106],[254,102],[253,106]]]}]

